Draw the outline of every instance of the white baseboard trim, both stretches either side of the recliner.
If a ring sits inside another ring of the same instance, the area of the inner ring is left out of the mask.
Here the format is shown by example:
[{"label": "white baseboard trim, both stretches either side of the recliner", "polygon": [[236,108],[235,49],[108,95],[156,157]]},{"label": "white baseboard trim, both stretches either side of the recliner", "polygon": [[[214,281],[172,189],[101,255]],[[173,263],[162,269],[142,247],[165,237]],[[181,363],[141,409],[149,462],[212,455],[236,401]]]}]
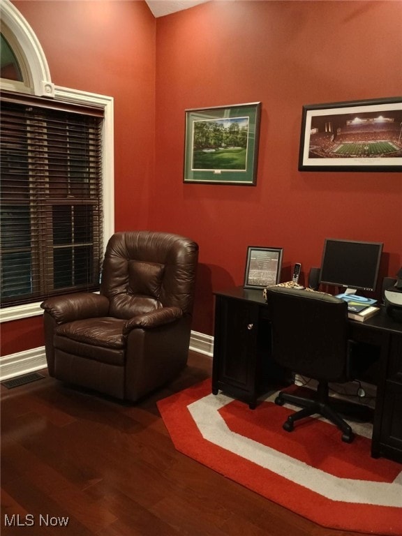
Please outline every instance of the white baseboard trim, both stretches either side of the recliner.
[{"label": "white baseboard trim, both stretches either side of the recliner", "polygon": [[[214,355],[214,337],[199,332],[191,332],[190,350],[212,357]],[[9,380],[46,368],[45,346],[31,348],[24,352],[0,357],[0,381]]]}]

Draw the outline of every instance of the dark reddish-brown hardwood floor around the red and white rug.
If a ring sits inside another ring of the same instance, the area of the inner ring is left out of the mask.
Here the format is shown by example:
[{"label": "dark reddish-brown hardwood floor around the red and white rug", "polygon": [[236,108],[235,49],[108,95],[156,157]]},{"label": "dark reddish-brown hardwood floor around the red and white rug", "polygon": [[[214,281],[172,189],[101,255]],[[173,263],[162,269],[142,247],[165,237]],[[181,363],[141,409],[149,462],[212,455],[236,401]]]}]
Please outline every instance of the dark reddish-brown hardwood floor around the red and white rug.
[{"label": "dark reddish-brown hardwood floor around the red and white rug", "polygon": [[43,380],[1,386],[1,535],[357,536],[317,526],[174,449],[156,401],[209,377],[208,357],[190,352],[177,380],[136,405],[41,372]]}]

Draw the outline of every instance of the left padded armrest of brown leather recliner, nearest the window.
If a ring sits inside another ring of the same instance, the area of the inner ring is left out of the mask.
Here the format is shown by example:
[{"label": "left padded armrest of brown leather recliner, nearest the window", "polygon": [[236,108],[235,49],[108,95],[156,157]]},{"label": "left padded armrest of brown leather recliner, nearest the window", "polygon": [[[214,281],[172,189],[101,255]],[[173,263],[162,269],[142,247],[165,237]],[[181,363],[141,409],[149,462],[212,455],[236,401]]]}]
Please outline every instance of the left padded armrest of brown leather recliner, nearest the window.
[{"label": "left padded armrest of brown leather recliner, nearest the window", "polygon": [[47,298],[40,304],[40,307],[45,309],[57,324],[64,324],[72,320],[107,316],[109,300],[99,294],[80,292]]}]

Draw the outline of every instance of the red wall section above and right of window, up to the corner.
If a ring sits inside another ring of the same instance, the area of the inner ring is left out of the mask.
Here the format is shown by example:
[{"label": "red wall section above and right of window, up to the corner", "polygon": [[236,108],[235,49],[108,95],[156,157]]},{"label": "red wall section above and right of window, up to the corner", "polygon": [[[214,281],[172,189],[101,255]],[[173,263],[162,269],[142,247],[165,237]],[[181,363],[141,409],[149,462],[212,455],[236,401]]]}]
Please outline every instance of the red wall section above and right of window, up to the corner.
[{"label": "red wall section above and right of window, up to the corner", "polygon": [[[143,1],[13,1],[52,82],[114,98],[116,230],[147,220],[154,177],[156,22]],[[135,210],[134,210],[135,208]]]}]

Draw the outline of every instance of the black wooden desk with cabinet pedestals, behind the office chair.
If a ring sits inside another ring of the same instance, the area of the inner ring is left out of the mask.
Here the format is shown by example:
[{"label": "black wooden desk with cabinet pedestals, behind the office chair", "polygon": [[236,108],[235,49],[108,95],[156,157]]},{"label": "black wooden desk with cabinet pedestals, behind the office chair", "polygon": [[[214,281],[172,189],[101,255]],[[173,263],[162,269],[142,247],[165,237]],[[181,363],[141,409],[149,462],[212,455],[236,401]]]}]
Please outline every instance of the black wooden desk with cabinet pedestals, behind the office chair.
[{"label": "black wooden desk with cabinet pedestals, behind the office chair", "polygon": [[[371,454],[402,463],[402,323],[385,308],[365,322],[350,320],[351,338],[380,347]],[[271,359],[269,304],[262,290],[215,292],[212,392],[221,389],[255,408],[257,399],[291,381]]]}]

